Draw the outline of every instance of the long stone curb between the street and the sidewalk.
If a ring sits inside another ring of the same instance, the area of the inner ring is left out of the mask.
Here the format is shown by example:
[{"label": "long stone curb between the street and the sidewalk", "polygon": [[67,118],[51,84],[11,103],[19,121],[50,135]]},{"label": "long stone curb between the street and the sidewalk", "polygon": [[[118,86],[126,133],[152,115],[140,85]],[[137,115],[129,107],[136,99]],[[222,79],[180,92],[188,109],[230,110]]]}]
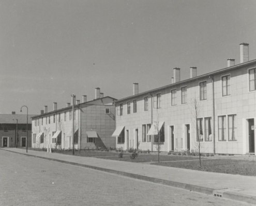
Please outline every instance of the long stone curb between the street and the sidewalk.
[{"label": "long stone curb between the street and the sidewalk", "polygon": [[[147,176],[138,175],[138,174],[126,173],[125,171],[118,171],[118,170],[114,170],[114,169],[86,165],[86,164],[81,164],[81,163],[76,163],[76,162],[69,162],[69,161],[58,160],[58,159],[54,159],[54,158],[41,157],[41,156],[37,156],[37,155],[29,155],[27,153],[20,153],[17,151],[10,151],[10,150],[5,150],[5,149],[1,149],[1,150],[13,152],[13,153],[19,153],[19,154],[25,155],[25,156],[41,158],[44,160],[51,160],[51,161],[55,161],[55,162],[61,162],[61,163],[65,163],[65,164],[71,164],[71,165],[81,166],[81,167],[85,167],[85,168],[95,169],[95,170],[104,171],[107,173],[112,173],[112,174],[130,177],[130,178],[134,178],[134,179],[144,180],[144,181],[148,181],[148,182],[154,182],[154,183],[168,185],[168,186],[172,186],[172,187],[178,187],[178,188],[182,188],[184,190],[203,193],[203,194],[207,194],[207,195],[213,195],[215,197],[223,197],[223,198],[227,198],[227,199],[256,204],[256,196],[240,194],[239,191],[233,191],[233,192],[225,191],[225,190],[227,190],[227,188],[216,190],[216,189],[209,188],[209,187],[197,186],[197,185],[193,185],[193,184],[186,184],[186,183],[174,182],[174,181],[170,181],[170,180],[163,180],[163,179],[154,178],[154,177],[147,177]],[[220,192],[222,190],[223,190],[223,192]]]}]

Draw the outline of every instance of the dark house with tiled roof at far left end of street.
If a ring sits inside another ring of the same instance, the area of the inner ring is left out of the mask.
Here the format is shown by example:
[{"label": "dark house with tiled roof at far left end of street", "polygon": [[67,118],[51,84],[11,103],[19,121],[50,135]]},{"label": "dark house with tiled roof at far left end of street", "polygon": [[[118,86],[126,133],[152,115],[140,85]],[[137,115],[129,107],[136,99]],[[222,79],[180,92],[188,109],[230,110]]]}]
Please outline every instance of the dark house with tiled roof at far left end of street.
[{"label": "dark house with tiled roof at far left end of street", "polygon": [[[31,147],[31,117],[26,114],[0,114],[0,147]],[[28,123],[28,124],[27,124]],[[27,131],[26,131],[27,124]]]}]

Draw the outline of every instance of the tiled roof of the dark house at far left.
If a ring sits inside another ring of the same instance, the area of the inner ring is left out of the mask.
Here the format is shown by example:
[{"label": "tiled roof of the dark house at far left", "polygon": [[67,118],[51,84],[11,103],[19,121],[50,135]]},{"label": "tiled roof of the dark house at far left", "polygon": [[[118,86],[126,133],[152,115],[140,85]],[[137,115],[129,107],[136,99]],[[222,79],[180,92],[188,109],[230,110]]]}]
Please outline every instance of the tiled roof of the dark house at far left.
[{"label": "tiled roof of the dark house at far left", "polygon": [[18,119],[18,124],[31,124],[31,117],[34,114],[28,114],[28,119],[26,114],[0,114],[0,124],[16,124],[16,119]]}]

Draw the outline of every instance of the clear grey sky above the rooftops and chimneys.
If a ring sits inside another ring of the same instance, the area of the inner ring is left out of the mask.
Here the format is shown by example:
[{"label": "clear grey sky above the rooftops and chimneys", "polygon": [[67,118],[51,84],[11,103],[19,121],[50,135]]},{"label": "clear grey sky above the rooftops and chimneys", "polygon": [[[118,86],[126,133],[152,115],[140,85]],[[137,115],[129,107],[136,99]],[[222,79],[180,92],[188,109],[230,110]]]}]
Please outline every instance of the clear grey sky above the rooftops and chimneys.
[{"label": "clear grey sky above the rooftops and chimneys", "polygon": [[[256,59],[255,0],[0,0],[0,113],[132,95]],[[25,110],[24,110],[25,111]],[[25,112],[22,112],[25,113]]]}]

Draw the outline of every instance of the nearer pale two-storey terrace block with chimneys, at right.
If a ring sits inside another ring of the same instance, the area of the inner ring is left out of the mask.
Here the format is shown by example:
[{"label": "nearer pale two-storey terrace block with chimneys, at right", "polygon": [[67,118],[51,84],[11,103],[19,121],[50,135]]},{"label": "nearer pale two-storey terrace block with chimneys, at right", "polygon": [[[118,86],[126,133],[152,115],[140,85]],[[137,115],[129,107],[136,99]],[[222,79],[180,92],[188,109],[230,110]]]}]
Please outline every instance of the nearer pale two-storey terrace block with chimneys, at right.
[{"label": "nearer pale two-storey terrace block with chimneys, at right", "polygon": [[116,147],[161,151],[195,150],[204,153],[255,153],[256,60],[249,46],[240,44],[240,63],[180,81],[173,69],[172,83],[119,99],[116,105]]}]

